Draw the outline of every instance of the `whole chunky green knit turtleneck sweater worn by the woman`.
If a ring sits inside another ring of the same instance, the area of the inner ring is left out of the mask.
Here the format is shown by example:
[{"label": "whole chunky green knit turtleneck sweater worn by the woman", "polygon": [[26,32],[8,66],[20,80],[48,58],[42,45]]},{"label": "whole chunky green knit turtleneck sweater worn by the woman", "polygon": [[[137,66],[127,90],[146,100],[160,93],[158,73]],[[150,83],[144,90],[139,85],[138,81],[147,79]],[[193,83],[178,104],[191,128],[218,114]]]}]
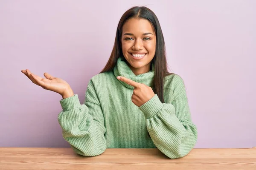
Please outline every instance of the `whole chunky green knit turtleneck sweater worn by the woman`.
[{"label": "whole chunky green knit turtleneck sweater worn by the woman", "polygon": [[154,69],[136,76],[119,57],[113,71],[90,79],[82,105],[77,94],[61,99],[63,111],[58,122],[73,150],[97,156],[106,148],[158,148],[172,159],[186,156],[197,141],[197,127],[191,119],[183,79],[177,74],[165,78],[165,103],[155,94],[137,107],[131,101],[134,87],[117,76],[150,86]]}]

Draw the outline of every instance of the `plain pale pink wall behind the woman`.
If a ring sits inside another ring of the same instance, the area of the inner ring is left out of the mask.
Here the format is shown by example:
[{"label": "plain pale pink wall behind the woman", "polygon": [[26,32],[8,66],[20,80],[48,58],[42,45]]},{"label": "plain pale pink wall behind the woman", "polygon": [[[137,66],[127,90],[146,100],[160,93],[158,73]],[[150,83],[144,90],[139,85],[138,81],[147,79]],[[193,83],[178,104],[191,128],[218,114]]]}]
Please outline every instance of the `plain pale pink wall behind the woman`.
[{"label": "plain pale pink wall behind the woman", "polygon": [[61,96],[33,84],[29,68],[66,80],[84,102],[132,6],[151,8],[169,71],[186,85],[195,147],[256,146],[255,0],[1,0],[0,147],[70,147],[58,124]]}]

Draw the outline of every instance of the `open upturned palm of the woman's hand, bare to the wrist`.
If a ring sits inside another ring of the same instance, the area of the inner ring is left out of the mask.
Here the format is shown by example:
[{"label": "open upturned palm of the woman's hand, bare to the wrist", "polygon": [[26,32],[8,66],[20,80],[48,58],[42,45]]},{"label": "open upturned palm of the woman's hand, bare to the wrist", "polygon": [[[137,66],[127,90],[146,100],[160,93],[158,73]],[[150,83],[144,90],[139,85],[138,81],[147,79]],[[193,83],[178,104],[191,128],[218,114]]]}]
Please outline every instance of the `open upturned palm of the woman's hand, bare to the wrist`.
[{"label": "open upturned palm of the woman's hand, bare to the wrist", "polygon": [[48,73],[44,73],[44,77],[46,77],[45,79],[32,74],[29,69],[21,70],[21,72],[25,74],[34,84],[39,85],[46,90],[54,91],[60,94],[63,98],[74,95],[70,85],[63,79],[53,77]]}]

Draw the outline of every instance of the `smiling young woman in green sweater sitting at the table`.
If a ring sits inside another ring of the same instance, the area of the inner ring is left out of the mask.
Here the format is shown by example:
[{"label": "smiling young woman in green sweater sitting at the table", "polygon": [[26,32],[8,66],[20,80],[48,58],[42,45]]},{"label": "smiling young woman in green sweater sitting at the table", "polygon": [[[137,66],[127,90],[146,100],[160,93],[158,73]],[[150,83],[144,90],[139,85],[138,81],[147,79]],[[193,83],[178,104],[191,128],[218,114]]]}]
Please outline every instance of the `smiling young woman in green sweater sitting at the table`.
[{"label": "smiling young woman in green sweater sitting at the table", "polygon": [[160,23],[149,8],[121,17],[111,56],[87,85],[84,103],[64,80],[22,72],[36,85],[61,94],[63,137],[83,156],[106,148],[158,148],[169,158],[187,155],[197,141],[183,79],[167,71]]}]

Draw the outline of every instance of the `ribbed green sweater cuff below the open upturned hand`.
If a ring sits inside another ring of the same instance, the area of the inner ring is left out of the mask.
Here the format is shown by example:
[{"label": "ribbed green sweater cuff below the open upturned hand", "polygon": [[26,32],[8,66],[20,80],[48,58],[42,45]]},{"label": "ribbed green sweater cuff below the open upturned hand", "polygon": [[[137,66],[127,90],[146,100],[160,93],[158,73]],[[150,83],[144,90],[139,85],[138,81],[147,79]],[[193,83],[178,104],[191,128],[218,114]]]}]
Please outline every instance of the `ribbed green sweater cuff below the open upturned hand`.
[{"label": "ribbed green sweater cuff below the open upturned hand", "polygon": [[81,105],[78,98],[78,94],[75,94],[74,96],[70,96],[65,99],[61,99],[60,103],[63,111],[69,111],[70,109],[74,108],[76,105]]}]

